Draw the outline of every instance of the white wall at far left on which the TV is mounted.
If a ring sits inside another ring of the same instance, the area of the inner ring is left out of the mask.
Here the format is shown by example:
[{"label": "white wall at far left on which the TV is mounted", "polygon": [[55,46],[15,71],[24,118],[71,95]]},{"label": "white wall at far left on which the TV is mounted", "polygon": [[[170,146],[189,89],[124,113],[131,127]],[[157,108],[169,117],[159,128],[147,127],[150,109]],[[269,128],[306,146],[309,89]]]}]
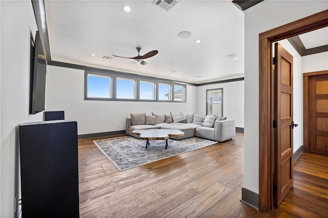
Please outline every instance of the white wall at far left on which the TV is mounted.
[{"label": "white wall at far left on which the TV is mounted", "polygon": [[[18,125],[41,121],[29,115],[30,37],[36,22],[31,1],[1,5],[1,205],[0,217],[14,217],[18,168]],[[20,197],[18,197],[20,198]]]}]

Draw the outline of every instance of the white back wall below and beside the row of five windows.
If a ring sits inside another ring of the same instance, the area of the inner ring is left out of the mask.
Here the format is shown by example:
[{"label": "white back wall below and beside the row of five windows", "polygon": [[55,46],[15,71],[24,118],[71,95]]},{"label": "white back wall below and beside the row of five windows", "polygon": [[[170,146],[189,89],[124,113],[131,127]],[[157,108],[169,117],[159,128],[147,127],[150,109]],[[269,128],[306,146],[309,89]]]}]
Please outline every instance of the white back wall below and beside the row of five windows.
[{"label": "white back wall below and beside the row of five windows", "polygon": [[[64,110],[77,121],[78,135],[125,130],[130,113],[194,113],[196,86],[187,85],[187,103],[84,100],[84,71],[48,66],[47,111]],[[118,123],[120,126],[118,126]]]}]

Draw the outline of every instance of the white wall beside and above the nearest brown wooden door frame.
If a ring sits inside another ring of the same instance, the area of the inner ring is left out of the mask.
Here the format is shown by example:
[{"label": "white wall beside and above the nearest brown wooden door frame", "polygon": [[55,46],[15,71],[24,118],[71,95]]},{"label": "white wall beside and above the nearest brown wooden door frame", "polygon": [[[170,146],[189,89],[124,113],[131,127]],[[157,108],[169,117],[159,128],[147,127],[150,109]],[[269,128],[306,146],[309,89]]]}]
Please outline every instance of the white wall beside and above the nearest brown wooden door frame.
[{"label": "white wall beside and above the nearest brown wooden door frame", "polygon": [[244,187],[258,193],[258,34],[326,10],[327,1],[263,1],[245,10]]}]

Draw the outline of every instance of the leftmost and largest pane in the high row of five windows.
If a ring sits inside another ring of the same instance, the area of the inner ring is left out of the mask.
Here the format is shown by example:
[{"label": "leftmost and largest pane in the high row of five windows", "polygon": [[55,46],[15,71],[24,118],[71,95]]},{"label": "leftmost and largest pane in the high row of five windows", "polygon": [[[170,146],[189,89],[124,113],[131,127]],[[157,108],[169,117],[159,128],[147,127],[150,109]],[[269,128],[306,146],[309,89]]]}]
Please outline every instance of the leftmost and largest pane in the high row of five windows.
[{"label": "leftmost and largest pane in the high row of five windows", "polygon": [[111,77],[88,75],[88,98],[111,98]]}]

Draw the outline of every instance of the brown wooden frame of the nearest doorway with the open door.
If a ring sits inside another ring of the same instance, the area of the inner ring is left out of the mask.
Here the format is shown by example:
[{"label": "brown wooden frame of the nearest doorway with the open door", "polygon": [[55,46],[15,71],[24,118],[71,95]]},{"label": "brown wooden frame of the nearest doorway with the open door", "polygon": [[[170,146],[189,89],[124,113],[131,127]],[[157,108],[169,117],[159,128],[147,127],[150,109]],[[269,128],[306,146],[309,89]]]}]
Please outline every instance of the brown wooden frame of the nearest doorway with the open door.
[{"label": "brown wooden frame of the nearest doorway with the open door", "polygon": [[273,209],[272,43],[328,26],[328,10],[259,34],[259,210]]}]

